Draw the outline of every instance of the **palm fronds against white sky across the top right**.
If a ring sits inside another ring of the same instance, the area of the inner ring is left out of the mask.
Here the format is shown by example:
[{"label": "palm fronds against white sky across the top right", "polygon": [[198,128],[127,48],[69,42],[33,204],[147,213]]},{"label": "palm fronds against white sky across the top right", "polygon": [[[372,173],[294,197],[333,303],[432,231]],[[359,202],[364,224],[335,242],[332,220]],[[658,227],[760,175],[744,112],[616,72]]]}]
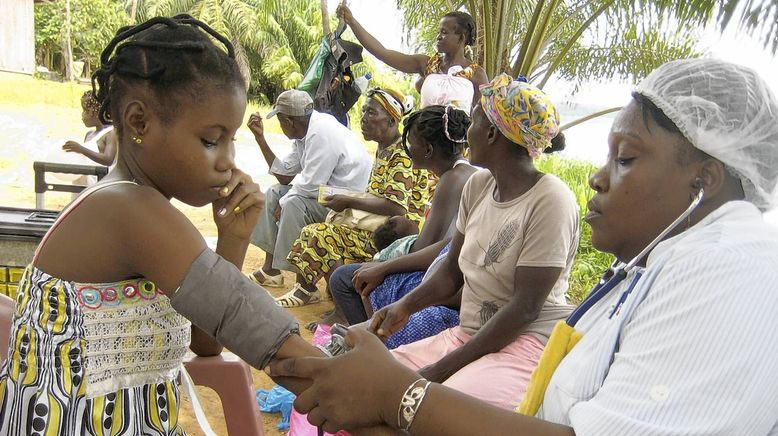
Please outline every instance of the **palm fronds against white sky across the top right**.
[{"label": "palm fronds against white sky across the top right", "polygon": [[479,27],[476,56],[489,76],[524,75],[543,86],[554,75],[575,81],[639,79],[670,59],[695,56],[695,40],[716,19],[759,32],[778,49],[774,0],[397,0],[408,29],[431,46],[437,20],[454,9]]}]

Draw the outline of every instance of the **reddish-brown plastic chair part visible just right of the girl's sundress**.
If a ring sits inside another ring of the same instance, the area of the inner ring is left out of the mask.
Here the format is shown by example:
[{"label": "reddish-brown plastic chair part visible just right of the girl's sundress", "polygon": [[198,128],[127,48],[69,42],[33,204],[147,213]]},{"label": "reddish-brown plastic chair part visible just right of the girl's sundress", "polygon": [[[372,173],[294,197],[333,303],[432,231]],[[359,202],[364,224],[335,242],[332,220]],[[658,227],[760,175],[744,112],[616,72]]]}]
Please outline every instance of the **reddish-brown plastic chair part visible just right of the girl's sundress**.
[{"label": "reddish-brown plastic chair part visible just right of the girl's sundress", "polygon": [[188,353],[184,366],[195,384],[207,386],[219,395],[230,435],[264,435],[254,379],[246,362],[227,351],[212,357]]}]

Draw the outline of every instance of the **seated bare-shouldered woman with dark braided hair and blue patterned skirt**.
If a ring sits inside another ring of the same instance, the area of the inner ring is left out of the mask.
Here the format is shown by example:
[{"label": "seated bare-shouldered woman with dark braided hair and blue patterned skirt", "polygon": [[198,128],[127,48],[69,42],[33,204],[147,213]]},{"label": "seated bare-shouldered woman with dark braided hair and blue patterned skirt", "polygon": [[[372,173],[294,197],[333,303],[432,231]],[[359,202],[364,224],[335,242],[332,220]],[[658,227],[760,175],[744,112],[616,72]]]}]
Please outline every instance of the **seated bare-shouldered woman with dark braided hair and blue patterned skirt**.
[{"label": "seated bare-shouldered woman with dark braided hair and blue patterned skirt", "polygon": [[[411,292],[429,276],[432,265],[436,265],[441,256],[445,258],[447,245],[456,232],[465,183],[476,171],[462,157],[469,126],[470,117],[452,106],[427,106],[405,119],[403,143],[414,168],[427,168],[430,176],[440,179],[424,228],[407,254],[378,262],[345,265],[332,274],[329,281],[332,297],[349,324],[366,321],[373,311]],[[380,253],[379,257],[383,255]],[[396,348],[458,325],[458,307],[459,302],[454,298],[447,305],[429,307],[413,314],[408,325],[387,340],[387,347]]]}]

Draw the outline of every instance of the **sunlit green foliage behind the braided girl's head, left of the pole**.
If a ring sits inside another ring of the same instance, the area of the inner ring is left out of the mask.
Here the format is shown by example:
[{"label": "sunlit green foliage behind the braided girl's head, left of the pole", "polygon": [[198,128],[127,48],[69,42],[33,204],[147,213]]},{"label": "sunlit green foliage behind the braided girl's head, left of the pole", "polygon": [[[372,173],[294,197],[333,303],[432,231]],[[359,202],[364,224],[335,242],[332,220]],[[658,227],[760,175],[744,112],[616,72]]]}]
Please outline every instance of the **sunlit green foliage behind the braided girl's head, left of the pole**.
[{"label": "sunlit green foliage behind the braided girl's head, left of the pole", "polygon": [[[66,0],[36,5],[37,61],[64,72]],[[297,86],[322,39],[318,2],[308,0],[70,0],[75,59],[94,65],[116,29],[160,15],[188,13],[226,35],[250,92],[272,101]]]}]

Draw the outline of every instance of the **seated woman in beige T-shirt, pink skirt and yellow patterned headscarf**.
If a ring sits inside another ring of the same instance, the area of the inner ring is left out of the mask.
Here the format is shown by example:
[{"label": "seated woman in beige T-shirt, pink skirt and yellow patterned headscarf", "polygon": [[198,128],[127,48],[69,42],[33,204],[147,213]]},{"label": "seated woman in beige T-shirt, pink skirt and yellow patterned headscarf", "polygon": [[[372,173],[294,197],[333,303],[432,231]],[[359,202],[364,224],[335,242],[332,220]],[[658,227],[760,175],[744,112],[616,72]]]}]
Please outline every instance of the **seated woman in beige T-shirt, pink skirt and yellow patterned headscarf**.
[{"label": "seated woman in beige T-shirt, pink skirt and yellow patterned headscarf", "polygon": [[481,93],[467,139],[471,162],[485,169],[465,185],[451,248],[429,280],[377,311],[370,329],[386,339],[411,314],[461,289],[459,326],[392,353],[429,381],[512,409],[552,327],[572,310],[565,292],[578,207],[570,189],[538,171],[530,156],[549,148],[558,131],[545,94],[506,75]]}]

